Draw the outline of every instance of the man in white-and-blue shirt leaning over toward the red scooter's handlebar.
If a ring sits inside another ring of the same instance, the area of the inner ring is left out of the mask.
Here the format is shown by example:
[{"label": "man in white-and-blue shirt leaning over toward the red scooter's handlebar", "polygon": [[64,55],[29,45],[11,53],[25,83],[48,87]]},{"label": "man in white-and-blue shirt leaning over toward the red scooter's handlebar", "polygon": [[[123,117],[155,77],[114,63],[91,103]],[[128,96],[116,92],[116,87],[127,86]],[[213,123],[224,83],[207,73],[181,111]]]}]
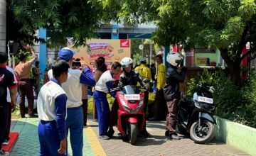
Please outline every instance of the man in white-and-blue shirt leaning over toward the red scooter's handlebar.
[{"label": "man in white-and-blue shirt leaning over toward the red scooter's handlebar", "polygon": [[102,74],[95,86],[95,92],[93,99],[97,107],[97,118],[99,123],[99,138],[103,140],[109,140],[107,136],[107,129],[110,121],[110,106],[107,102],[107,93],[110,93],[114,98],[116,97],[115,92],[111,92],[113,88],[114,74],[119,74],[121,71],[121,64],[114,62],[110,70],[107,70]]}]

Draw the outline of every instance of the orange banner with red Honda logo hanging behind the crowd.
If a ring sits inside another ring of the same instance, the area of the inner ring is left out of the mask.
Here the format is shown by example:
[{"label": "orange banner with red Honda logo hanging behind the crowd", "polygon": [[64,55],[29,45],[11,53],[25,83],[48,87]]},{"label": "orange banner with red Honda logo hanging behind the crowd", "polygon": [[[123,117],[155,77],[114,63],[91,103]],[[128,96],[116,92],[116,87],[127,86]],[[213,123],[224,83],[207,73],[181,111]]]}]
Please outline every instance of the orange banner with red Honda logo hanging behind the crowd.
[{"label": "orange banner with red Honda logo hanging behind the crowd", "polygon": [[73,48],[72,42],[68,42],[68,48],[75,50],[74,58],[85,60],[91,69],[95,69],[97,57],[105,57],[107,68],[110,69],[113,62],[120,62],[123,57],[131,57],[130,40],[87,40],[88,46]]}]

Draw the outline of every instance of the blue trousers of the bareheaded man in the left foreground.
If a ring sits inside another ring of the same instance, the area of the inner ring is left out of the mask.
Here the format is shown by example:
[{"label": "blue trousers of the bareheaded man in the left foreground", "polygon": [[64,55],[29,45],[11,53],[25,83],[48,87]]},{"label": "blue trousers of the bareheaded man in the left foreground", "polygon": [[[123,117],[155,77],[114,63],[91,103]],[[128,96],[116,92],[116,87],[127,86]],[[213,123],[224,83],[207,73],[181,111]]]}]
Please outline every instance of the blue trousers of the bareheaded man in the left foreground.
[{"label": "blue trousers of the bareheaded man in the left foreground", "polygon": [[58,149],[60,149],[61,140],[56,125],[56,121],[40,121],[38,123],[39,155],[60,155]]}]

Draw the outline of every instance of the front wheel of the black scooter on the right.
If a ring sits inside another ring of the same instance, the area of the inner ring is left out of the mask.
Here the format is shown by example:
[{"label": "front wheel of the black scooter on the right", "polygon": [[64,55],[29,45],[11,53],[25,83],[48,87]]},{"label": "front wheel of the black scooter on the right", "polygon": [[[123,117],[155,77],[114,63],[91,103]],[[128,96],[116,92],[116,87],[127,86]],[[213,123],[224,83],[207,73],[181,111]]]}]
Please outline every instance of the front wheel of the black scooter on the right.
[{"label": "front wheel of the black scooter on the right", "polygon": [[198,121],[194,122],[189,131],[191,139],[194,143],[209,143],[214,137],[214,125],[210,121],[202,120],[201,127],[198,126]]}]

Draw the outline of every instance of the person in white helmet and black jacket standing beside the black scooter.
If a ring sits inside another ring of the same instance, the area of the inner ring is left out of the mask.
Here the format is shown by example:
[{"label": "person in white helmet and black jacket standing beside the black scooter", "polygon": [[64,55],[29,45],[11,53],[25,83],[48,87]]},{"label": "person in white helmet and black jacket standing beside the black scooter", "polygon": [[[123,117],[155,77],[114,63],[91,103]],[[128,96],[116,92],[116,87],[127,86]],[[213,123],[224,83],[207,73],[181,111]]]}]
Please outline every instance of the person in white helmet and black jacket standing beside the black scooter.
[{"label": "person in white helmet and black jacket standing beside the black scooter", "polygon": [[166,69],[166,86],[164,87],[164,98],[168,108],[166,116],[165,135],[169,139],[179,140],[181,138],[176,134],[176,121],[178,113],[178,101],[180,99],[179,82],[183,82],[186,75],[186,67],[181,67],[181,72],[177,72],[178,65],[181,64],[183,55],[178,52],[170,52],[166,61],[169,67]]}]

